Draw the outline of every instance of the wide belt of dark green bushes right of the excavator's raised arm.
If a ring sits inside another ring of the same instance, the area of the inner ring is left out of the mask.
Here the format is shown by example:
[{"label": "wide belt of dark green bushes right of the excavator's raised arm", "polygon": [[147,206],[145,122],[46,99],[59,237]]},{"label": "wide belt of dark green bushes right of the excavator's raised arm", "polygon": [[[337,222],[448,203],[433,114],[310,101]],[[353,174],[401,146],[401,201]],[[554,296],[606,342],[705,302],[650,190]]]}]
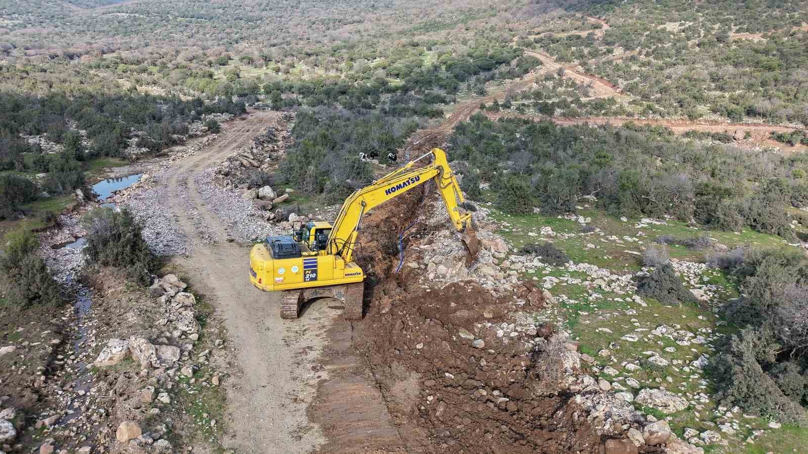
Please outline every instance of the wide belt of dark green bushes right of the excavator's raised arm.
[{"label": "wide belt of dark green bushes right of the excavator's raised arm", "polygon": [[490,183],[500,208],[574,212],[593,195],[612,212],[670,214],[718,229],[794,238],[786,206],[808,204],[808,159],[680,141],[662,127],[561,127],[522,119],[459,124],[452,159]]}]

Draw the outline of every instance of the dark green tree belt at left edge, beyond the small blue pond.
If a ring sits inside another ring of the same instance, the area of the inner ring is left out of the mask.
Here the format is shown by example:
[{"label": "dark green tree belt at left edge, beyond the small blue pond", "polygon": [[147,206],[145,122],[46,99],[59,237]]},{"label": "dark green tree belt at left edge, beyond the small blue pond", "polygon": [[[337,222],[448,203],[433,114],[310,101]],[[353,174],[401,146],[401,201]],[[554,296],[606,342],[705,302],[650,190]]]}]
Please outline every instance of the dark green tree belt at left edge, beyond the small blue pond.
[{"label": "dark green tree belt at left edge, beyond the small blue pond", "polygon": [[[157,151],[176,143],[178,136],[187,134],[187,125],[205,113],[238,115],[244,111],[243,104],[229,99],[204,103],[201,99],[183,101],[149,95],[67,96],[53,92],[32,97],[6,92],[0,95],[0,170],[17,167],[35,171],[42,170],[37,166],[45,166],[26,164],[23,154],[36,155],[40,150],[19,138],[20,134],[44,135],[65,145],[64,158],[68,161],[82,160],[85,155],[123,157],[135,132],[141,132],[137,145]],[[86,150],[75,129],[86,131],[90,142]]]}]

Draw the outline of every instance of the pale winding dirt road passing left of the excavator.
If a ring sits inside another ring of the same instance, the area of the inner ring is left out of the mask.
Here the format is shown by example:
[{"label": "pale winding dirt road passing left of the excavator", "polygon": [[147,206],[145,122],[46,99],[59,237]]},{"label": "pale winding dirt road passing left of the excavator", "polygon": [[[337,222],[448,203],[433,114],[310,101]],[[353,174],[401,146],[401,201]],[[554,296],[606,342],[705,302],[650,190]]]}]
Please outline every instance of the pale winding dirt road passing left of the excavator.
[{"label": "pale winding dirt road passing left of the excavator", "polygon": [[238,371],[225,382],[229,426],[225,439],[237,452],[309,452],[322,433],[309,425],[305,407],[318,375],[311,365],[322,350],[324,326],[336,312],[325,306],[289,326],[280,319],[275,293],[259,292],[248,279],[249,250],[230,239],[229,228],[211,212],[195,179],[234,149],[249,145],[277,112],[255,112],[234,121],[212,145],[179,162],[165,188],[175,219],[190,242],[190,257],[176,259],[197,291],[210,299],[229,333]]}]

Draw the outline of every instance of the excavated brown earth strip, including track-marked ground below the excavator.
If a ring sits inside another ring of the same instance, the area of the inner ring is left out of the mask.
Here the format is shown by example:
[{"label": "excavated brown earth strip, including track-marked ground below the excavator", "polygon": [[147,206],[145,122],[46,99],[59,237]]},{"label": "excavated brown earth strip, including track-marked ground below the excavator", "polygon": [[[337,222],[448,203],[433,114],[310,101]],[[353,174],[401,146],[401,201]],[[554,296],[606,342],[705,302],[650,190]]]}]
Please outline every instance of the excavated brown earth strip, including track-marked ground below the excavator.
[{"label": "excavated brown earth strip, including track-marked ground below the excavator", "polygon": [[[365,317],[331,328],[330,379],[309,408],[329,439],[321,452],[603,452],[572,396],[539,388],[524,343],[488,330],[486,347],[475,348],[457,335],[509,321],[512,296],[496,298],[473,281],[427,289],[423,271],[395,273],[398,234],[417,219],[423,189],[364,221],[356,261],[368,272]],[[416,224],[409,238],[427,233]]]}]

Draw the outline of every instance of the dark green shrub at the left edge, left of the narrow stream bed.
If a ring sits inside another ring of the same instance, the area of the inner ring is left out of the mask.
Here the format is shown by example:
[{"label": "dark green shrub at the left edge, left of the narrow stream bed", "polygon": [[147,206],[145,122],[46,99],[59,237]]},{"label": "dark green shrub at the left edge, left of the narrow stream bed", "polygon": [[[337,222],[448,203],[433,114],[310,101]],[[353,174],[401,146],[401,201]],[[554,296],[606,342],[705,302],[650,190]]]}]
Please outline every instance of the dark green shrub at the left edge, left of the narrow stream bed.
[{"label": "dark green shrub at the left edge, left of the narrow stream bed", "polygon": [[9,233],[0,254],[0,268],[7,281],[6,297],[12,305],[57,305],[64,301],[61,287],[53,280],[44,260],[37,254],[40,246],[31,232]]}]

